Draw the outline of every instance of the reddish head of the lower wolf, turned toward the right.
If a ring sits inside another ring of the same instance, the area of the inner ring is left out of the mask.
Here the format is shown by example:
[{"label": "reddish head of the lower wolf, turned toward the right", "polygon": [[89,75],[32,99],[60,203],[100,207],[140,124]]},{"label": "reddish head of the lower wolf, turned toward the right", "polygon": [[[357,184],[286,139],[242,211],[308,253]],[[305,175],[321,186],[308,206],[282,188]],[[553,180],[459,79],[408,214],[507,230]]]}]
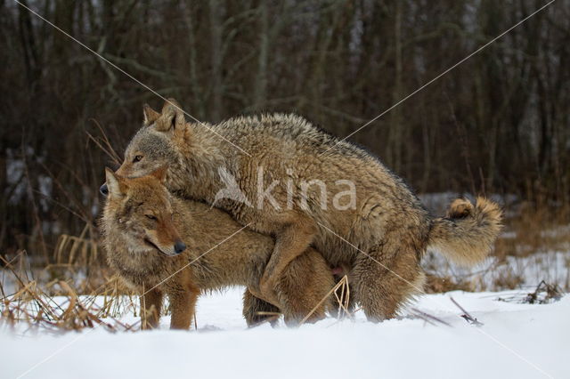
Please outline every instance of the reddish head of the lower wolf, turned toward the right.
[{"label": "reddish head of the lower wolf, turned toward the right", "polygon": [[107,229],[122,233],[134,252],[158,250],[167,255],[182,253],[186,246],[173,223],[170,194],[162,181],[166,168],[150,175],[127,179],[105,170],[109,197],[105,204]]}]

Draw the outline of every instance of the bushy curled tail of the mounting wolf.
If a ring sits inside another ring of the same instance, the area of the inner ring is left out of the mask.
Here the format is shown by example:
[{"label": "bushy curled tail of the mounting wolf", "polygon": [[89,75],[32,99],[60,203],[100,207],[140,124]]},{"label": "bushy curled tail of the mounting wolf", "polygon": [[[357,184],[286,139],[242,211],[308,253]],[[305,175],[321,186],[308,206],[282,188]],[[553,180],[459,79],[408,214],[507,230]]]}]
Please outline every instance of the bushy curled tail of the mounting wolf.
[{"label": "bushy curled tail of the mounting wolf", "polygon": [[446,217],[433,220],[428,248],[437,250],[463,266],[485,259],[501,232],[501,208],[486,198],[476,205],[464,198],[452,202]]}]

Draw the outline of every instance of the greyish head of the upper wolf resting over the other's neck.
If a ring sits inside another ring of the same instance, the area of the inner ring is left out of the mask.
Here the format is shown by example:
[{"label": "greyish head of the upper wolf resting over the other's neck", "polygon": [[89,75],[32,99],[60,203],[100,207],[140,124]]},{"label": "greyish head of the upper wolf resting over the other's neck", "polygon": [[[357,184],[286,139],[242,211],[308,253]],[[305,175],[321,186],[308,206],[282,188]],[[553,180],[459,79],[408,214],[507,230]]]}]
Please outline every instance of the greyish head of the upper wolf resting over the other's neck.
[{"label": "greyish head of the upper wolf resting over the other's neck", "polygon": [[148,175],[165,165],[173,165],[178,153],[173,143],[173,134],[186,124],[183,110],[174,99],[168,99],[162,113],[147,104],[142,109],[142,128],[129,142],[125,160],[117,173],[125,177]]}]

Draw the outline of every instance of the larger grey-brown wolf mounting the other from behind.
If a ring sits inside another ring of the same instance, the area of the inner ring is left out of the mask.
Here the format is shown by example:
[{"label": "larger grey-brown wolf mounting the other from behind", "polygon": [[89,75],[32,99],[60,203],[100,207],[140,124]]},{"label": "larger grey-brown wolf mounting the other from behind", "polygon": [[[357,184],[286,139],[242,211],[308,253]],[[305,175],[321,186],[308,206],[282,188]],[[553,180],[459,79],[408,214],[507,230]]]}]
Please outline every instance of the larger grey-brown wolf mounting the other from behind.
[{"label": "larger grey-brown wolf mounting the other from behind", "polygon": [[145,105],[143,114],[118,174],[142,176],[167,165],[171,191],[273,235],[260,283],[265,299],[311,245],[332,267],[347,268],[368,319],[389,319],[421,290],[419,261],[428,247],[472,265],[501,230],[501,210],[485,198],[475,206],[456,200],[447,217],[430,216],[378,158],[302,117],[235,117],[206,126],[187,123],[174,100],[161,113]]}]

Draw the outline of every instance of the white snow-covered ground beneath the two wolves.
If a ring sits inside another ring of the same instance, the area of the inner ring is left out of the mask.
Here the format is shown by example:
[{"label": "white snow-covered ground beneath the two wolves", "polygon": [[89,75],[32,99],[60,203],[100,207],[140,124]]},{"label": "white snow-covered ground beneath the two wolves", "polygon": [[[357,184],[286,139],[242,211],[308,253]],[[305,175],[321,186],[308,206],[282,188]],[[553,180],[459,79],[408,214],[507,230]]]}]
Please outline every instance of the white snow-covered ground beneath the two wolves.
[{"label": "white snow-covered ground beneath the two wolves", "polygon": [[[354,320],[248,329],[235,288],[200,299],[192,332],[167,330],[167,317],[161,330],[137,333],[3,326],[0,377],[570,377],[570,296],[546,305],[498,300],[514,294],[433,294],[413,305],[451,327],[411,318],[372,324],[361,311]],[[461,319],[450,296],[484,325]]]}]

